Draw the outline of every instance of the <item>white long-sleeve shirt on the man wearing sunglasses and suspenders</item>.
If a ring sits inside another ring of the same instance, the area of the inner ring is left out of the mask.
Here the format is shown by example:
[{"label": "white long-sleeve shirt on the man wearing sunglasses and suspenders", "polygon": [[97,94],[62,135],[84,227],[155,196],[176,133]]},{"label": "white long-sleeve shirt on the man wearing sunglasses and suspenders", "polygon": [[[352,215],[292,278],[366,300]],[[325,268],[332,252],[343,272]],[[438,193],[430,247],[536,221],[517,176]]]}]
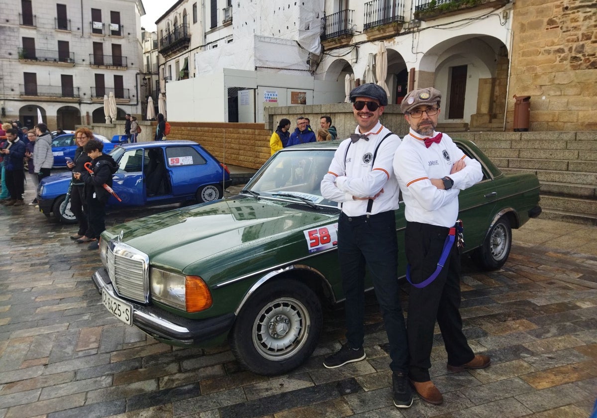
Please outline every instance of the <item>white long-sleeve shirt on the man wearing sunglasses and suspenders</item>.
[{"label": "white long-sleeve shirt on the man wearing sunglasses and suspenders", "polygon": [[[360,133],[358,127],[355,133]],[[377,145],[383,137],[390,133],[380,122],[369,132],[368,141],[359,139],[352,143],[346,139],[340,143],[328,173],[321,181],[321,194],[327,199],[338,202],[338,208],[347,216],[361,216],[367,214],[367,200],[381,193],[373,202],[371,214],[395,210],[398,208],[400,189],[398,181],[393,175],[392,161],[394,153],[400,145],[400,138],[392,134],[381,143],[377,156],[373,162],[373,155]],[[348,152],[346,149],[348,147]],[[345,159],[346,156],[346,159]]]}]

